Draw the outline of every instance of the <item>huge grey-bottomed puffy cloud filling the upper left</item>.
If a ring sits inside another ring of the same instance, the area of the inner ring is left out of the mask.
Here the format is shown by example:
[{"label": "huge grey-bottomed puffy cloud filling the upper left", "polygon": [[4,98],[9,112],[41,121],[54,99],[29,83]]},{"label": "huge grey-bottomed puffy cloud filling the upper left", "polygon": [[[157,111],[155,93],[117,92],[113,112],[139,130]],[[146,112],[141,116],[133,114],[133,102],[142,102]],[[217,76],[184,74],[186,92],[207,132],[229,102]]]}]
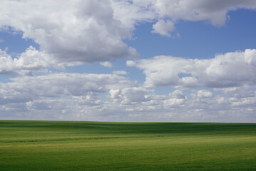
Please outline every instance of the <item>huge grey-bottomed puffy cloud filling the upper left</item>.
[{"label": "huge grey-bottomed puffy cloud filling the upper left", "polygon": [[[21,31],[62,63],[138,57],[111,1],[1,1],[0,27]],[[6,27],[7,26],[7,27]]]}]

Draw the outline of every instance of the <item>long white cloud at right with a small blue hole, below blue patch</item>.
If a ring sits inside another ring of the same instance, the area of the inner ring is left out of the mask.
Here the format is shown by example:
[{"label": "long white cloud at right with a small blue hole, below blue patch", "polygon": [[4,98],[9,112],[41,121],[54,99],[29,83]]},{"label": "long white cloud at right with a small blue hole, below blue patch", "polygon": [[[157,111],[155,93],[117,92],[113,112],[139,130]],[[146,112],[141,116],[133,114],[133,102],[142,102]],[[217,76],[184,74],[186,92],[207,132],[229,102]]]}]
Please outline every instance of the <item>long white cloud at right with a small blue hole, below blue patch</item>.
[{"label": "long white cloud at right with a small blue hole, below blue patch", "polygon": [[[256,85],[256,50],[218,54],[211,59],[156,56],[128,61],[145,74],[145,86],[229,88]],[[237,68],[240,68],[237,70]]]}]

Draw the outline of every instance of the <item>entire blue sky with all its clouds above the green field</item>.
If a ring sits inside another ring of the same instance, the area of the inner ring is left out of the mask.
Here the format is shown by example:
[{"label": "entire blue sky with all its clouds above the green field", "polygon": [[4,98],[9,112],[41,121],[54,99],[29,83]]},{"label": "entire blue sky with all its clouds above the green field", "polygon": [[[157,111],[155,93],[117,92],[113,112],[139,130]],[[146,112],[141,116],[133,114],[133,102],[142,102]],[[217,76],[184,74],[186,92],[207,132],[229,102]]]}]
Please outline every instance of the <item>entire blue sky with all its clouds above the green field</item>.
[{"label": "entire blue sky with all its clouds above the green field", "polygon": [[1,0],[0,119],[256,122],[254,0]]}]

